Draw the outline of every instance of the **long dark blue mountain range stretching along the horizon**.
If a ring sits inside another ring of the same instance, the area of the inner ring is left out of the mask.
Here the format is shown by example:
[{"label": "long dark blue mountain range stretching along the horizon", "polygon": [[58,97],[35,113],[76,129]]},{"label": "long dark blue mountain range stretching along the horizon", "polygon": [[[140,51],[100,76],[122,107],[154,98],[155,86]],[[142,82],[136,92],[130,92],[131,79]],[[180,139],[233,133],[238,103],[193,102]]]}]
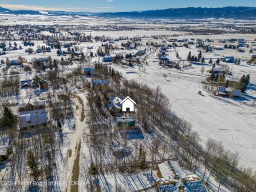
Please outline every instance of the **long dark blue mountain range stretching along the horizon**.
[{"label": "long dark blue mountain range stretching along the horizon", "polygon": [[[131,12],[66,12],[66,11],[47,11],[48,14],[71,14],[71,15],[93,15],[110,18],[235,18],[235,19],[255,19],[255,7],[222,7],[222,8],[202,8],[188,7],[179,9],[143,10]],[[35,10],[9,10],[0,7],[2,14],[47,14]]]}]

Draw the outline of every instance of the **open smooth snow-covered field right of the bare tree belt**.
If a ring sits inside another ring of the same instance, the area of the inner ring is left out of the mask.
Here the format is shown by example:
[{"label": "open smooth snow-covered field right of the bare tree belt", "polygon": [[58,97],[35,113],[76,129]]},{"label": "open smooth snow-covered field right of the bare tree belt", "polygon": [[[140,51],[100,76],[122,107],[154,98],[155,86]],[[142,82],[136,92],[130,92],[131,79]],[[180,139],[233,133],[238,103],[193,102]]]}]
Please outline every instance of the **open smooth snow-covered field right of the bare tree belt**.
[{"label": "open smooth snow-covered field right of the bare tree belt", "polygon": [[[214,138],[222,142],[226,149],[238,151],[242,165],[256,169],[256,109],[251,106],[255,90],[248,91],[251,98],[242,96],[240,100],[208,96],[207,92],[199,95],[198,90],[202,90],[200,82],[205,79],[202,75],[178,73],[180,71],[177,69],[162,69],[158,63],[149,63],[145,67],[146,73],[140,72],[138,67],[115,68],[127,79],[137,79],[152,88],[159,85],[163,94],[169,98],[171,109],[192,123],[193,130],[199,132],[203,144],[207,138]],[[137,73],[127,73],[131,71]],[[163,73],[168,74],[166,80]],[[193,71],[188,73],[194,74]]]}]

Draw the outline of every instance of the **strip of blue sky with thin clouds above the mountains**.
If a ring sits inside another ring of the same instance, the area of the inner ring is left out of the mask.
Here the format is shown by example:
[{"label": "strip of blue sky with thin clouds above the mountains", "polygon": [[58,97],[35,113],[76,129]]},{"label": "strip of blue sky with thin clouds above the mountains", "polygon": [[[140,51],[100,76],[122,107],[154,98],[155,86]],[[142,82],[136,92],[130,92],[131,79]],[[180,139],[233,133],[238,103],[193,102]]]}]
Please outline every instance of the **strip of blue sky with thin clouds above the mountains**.
[{"label": "strip of blue sky with thin clouds above the mountains", "polygon": [[255,0],[0,0],[0,6],[18,10],[118,12],[180,7],[256,7]]}]

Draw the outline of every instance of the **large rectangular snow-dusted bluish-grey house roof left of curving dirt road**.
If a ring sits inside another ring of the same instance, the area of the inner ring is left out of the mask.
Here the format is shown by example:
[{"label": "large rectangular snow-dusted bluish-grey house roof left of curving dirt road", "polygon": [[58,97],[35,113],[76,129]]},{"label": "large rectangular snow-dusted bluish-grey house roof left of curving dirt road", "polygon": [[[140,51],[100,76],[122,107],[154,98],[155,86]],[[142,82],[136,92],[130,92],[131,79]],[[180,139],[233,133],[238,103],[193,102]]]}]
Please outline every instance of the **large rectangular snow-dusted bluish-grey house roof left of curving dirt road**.
[{"label": "large rectangular snow-dusted bluish-grey house roof left of curving dirt road", "polygon": [[47,112],[18,116],[18,127],[19,128],[40,125],[43,123],[47,123]]}]

